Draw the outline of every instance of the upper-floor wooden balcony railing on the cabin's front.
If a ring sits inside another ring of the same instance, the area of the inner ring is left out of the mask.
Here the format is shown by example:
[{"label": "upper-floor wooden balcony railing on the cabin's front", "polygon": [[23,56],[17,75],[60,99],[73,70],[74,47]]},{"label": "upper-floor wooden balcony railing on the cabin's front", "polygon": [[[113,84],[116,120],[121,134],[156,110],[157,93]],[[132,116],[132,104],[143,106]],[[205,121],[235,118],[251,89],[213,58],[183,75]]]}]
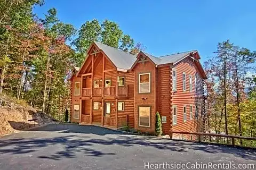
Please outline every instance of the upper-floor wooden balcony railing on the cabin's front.
[{"label": "upper-floor wooden balcony railing on the cabin's front", "polygon": [[[83,97],[90,97],[90,96],[99,97],[99,96],[102,96],[102,92],[103,92],[103,96],[116,96],[116,86],[99,87],[99,88],[92,88],[92,89],[83,88],[82,96]],[[128,86],[118,87],[117,92],[118,92],[117,96],[128,97]]]}]

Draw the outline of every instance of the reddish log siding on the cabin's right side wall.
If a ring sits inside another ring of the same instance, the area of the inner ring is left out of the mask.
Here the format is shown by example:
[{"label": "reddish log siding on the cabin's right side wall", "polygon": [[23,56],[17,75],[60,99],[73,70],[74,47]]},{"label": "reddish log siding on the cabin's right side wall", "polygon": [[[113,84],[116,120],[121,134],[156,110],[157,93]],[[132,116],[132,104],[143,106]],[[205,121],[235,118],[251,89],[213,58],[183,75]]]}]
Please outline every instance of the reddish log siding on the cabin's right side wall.
[{"label": "reddish log siding on the cabin's right side wall", "polygon": [[[203,116],[201,115],[201,106],[203,103],[203,95],[201,91],[195,92],[195,77],[197,77],[197,87],[202,82],[202,77],[199,75],[199,71],[195,63],[191,58],[186,58],[181,62],[174,65],[177,71],[177,91],[173,92],[172,105],[177,106],[177,124],[172,126],[173,131],[187,131],[187,132],[203,132]],[[183,91],[183,73],[186,73],[186,91]],[[192,76],[192,91],[189,91],[189,75]],[[193,106],[193,119],[190,120],[189,107]],[[198,106],[198,118],[195,118],[195,106]],[[187,121],[183,122],[183,106],[186,106]],[[180,138],[180,135],[177,135]],[[190,138],[186,135],[185,138]]]}]

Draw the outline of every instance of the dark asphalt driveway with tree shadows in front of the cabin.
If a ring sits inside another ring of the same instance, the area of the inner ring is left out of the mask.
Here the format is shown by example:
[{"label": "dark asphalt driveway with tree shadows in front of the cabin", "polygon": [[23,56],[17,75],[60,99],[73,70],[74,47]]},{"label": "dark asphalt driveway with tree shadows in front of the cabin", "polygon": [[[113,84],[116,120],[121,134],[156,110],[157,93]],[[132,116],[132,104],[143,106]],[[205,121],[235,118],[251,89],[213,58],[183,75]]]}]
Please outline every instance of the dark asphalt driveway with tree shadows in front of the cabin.
[{"label": "dark asphalt driveway with tree shadows in front of the cabin", "polygon": [[75,124],[52,124],[0,137],[1,170],[145,169],[145,163],[163,162],[256,164],[256,151]]}]

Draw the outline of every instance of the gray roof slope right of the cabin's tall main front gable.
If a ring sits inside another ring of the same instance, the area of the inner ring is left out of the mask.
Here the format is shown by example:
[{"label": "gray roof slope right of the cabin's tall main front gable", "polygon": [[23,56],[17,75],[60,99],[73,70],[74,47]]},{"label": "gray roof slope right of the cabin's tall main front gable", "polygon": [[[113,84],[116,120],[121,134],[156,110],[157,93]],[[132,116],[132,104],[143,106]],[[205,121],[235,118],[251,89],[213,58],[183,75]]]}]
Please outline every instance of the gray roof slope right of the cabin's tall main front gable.
[{"label": "gray roof slope right of the cabin's tall main front gable", "polygon": [[96,41],[94,41],[94,43],[108,56],[111,62],[113,62],[113,64],[115,64],[115,66],[119,69],[129,70],[133,63],[137,60],[136,56],[130,53],[123,52],[122,50],[118,50],[114,47],[110,47]]}]

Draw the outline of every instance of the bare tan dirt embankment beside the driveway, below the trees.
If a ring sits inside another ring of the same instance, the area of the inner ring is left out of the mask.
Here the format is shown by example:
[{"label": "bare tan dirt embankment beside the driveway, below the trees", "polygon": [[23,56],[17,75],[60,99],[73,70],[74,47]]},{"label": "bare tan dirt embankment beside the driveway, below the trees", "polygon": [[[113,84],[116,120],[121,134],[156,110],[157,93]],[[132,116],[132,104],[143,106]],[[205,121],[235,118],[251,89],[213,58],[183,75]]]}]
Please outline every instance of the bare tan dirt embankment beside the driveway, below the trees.
[{"label": "bare tan dirt embankment beside the driveway, below the trees", "polygon": [[[31,119],[37,119],[35,126],[55,123],[50,116],[25,103],[17,104],[17,101],[0,96],[0,135],[28,129]],[[33,126],[31,122],[30,128]]]}]

